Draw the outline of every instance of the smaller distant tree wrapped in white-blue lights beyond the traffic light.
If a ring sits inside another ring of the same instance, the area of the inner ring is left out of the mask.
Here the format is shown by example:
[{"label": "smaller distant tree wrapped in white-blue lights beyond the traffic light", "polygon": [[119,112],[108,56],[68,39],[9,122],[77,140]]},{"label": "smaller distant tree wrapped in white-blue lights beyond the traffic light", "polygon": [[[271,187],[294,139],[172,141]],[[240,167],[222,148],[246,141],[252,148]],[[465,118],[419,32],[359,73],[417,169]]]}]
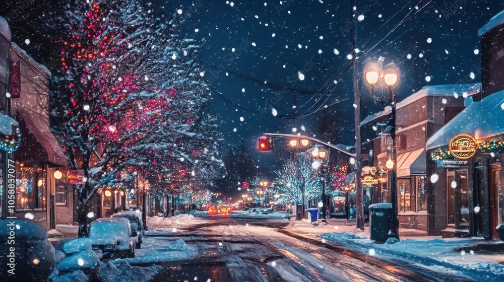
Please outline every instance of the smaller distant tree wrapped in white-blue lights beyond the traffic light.
[{"label": "smaller distant tree wrapped in white-blue lights beyond the traffic light", "polygon": [[312,167],[313,160],[307,156],[298,156],[299,160],[287,160],[275,173],[278,176],[275,186],[283,194],[283,202],[302,204],[303,182],[305,200],[310,200],[322,193],[319,169]]}]

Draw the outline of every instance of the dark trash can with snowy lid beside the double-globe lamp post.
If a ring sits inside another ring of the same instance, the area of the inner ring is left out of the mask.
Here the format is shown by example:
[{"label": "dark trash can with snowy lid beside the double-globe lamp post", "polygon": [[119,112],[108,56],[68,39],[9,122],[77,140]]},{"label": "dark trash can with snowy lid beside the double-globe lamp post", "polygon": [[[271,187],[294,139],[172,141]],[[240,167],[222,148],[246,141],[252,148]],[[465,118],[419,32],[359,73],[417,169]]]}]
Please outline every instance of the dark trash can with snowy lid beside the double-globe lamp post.
[{"label": "dark trash can with snowy lid beside the double-globe lamp post", "polygon": [[369,239],[375,242],[387,241],[392,224],[392,203],[371,204],[369,214]]}]

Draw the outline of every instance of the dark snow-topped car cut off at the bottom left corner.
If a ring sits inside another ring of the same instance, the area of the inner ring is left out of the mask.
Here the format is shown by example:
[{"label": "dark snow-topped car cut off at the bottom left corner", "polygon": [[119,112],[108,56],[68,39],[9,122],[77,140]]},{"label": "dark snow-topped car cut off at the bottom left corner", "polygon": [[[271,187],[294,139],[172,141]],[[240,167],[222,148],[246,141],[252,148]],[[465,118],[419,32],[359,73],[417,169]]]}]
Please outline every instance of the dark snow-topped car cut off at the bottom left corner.
[{"label": "dark snow-topped car cut off at the bottom left corner", "polygon": [[0,281],[47,280],[59,262],[47,238],[49,235],[38,224],[0,221]]}]

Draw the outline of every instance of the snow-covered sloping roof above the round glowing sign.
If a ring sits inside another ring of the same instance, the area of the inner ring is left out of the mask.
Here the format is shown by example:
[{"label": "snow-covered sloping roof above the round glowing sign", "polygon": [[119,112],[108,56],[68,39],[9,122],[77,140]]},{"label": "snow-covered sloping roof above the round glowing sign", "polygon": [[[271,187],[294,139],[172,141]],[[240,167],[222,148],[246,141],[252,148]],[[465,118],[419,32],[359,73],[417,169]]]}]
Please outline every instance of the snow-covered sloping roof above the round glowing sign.
[{"label": "snow-covered sloping roof above the round glowing sign", "polygon": [[503,134],[502,103],[504,91],[485,97],[480,102],[471,103],[427,140],[427,150],[448,145],[450,138],[458,133],[468,133],[476,138]]}]

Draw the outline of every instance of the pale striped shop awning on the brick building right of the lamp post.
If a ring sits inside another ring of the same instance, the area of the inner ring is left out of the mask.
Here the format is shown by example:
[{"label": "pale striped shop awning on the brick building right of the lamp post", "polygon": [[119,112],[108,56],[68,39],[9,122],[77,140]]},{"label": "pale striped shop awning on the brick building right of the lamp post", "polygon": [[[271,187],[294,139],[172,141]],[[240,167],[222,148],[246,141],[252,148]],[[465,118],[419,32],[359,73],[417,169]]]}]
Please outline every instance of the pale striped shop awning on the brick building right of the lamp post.
[{"label": "pale striped shop awning on the brick building right of the lamp post", "polygon": [[397,177],[426,174],[425,149],[403,153],[397,156]]}]

